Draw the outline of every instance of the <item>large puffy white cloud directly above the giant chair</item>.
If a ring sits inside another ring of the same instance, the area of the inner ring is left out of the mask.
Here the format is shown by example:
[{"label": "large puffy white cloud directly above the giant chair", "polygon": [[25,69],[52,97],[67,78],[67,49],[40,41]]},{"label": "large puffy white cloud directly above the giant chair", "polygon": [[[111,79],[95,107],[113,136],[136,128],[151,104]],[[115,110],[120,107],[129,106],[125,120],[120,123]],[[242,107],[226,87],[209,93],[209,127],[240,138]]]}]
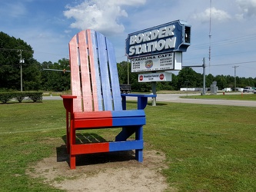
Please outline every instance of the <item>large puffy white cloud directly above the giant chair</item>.
[{"label": "large puffy white cloud directly above the giant chair", "polygon": [[67,6],[68,10],[64,15],[67,18],[75,18],[71,28],[91,28],[105,35],[112,35],[125,30],[119,18],[128,17],[128,14],[121,6],[143,5],[145,2],[146,0],[85,0],[80,5]]}]

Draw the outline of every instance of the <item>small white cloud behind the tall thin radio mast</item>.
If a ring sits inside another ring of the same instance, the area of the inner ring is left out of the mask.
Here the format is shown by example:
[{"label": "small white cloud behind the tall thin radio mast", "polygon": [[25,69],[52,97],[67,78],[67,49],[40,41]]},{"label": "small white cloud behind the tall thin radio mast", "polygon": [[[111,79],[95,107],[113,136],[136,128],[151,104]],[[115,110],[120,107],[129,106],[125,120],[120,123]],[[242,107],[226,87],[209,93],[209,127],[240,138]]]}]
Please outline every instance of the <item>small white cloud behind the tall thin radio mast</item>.
[{"label": "small white cloud behind the tall thin radio mast", "polygon": [[211,19],[217,22],[226,22],[229,19],[231,19],[231,15],[229,15],[227,12],[224,12],[220,9],[216,8],[207,8],[204,12],[194,14],[193,18],[196,20],[199,20],[201,22],[208,22],[210,18],[210,12],[211,12]]}]

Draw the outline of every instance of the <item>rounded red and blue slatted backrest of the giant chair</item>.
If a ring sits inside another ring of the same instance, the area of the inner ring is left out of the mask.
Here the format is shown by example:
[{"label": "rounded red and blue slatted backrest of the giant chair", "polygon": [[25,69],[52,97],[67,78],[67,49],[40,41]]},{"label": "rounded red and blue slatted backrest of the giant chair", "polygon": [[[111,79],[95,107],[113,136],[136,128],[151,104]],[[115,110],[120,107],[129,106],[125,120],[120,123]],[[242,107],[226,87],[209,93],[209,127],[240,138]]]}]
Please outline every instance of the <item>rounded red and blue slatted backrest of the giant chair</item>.
[{"label": "rounded red and blue slatted backrest of the giant chair", "polygon": [[101,33],[80,31],[69,42],[73,111],[121,111],[115,50]]}]

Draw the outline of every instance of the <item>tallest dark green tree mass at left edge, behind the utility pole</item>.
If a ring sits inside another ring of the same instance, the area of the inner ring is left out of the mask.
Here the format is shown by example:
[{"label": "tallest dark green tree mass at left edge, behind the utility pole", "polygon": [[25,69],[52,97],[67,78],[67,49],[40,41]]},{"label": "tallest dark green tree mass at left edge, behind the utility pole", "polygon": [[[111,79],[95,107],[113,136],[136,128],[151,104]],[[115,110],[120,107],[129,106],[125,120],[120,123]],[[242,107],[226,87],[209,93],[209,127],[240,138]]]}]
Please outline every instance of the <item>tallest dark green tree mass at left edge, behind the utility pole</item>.
[{"label": "tallest dark green tree mass at left edge, behind the utility pole", "polygon": [[[25,62],[21,62],[24,60]],[[22,71],[21,71],[22,65]],[[0,89],[21,89],[21,72],[25,90],[38,89],[38,63],[30,45],[20,38],[0,32]],[[26,87],[28,86],[28,87]]]}]

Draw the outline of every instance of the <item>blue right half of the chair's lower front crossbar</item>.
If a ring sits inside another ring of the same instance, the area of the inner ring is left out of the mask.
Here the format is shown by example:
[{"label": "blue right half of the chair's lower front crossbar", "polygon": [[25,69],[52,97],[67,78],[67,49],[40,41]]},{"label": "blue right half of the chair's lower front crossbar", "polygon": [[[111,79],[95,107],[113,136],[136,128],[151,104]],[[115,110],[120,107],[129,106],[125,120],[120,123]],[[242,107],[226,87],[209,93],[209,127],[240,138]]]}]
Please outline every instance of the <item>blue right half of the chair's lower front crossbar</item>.
[{"label": "blue right half of the chair's lower front crossbar", "polygon": [[142,150],[143,140],[137,141],[115,141],[109,143],[109,151]]}]

